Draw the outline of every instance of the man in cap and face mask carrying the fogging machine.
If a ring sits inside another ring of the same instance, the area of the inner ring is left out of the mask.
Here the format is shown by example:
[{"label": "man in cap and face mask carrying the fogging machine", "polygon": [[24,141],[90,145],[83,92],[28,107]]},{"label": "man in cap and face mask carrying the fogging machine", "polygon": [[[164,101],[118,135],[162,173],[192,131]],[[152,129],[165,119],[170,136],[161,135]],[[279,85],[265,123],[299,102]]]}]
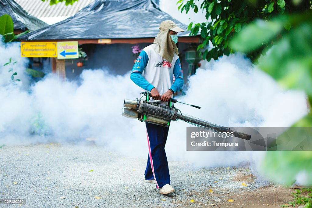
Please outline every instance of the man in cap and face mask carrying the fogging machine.
[{"label": "man in cap and face mask carrying the fogging machine", "polygon": [[[168,102],[173,93],[183,87],[183,74],[178,57],[178,32],[184,32],[173,21],[160,23],[154,43],[140,53],[130,78],[139,87],[151,92],[150,102]],[[173,83],[173,75],[175,81]],[[174,192],[170,186],[168,161],[165,152],[169,127],[146,123],[149,157],[145,170],[145,181],[156,183],[159,193]]]}]

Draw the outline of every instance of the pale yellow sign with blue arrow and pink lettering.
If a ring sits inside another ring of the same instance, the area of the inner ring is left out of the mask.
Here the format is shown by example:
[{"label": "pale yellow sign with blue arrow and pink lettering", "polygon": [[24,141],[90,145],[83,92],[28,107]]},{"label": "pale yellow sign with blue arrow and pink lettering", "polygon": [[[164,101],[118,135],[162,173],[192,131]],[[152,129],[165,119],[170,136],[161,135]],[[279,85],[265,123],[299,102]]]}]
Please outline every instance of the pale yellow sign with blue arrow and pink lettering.
[{"label": "pale yellow sign with blue arrow and pink lettering", "polygon": [[57,42],[57,59],[79,58],[78,41]]}]

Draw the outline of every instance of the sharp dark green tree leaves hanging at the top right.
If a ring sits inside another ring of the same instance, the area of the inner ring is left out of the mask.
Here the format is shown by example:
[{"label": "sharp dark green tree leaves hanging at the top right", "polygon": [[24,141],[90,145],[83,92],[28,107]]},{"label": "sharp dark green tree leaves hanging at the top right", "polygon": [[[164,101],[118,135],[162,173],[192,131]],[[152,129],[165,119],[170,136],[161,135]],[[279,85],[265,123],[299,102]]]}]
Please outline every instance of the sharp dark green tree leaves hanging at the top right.
[{"label": "sharp dark green tree leaves hanging at the top right", "polygon": [[[181,12],[188,13],[190,9],[198,12],[199,8],[206,12],[207,22],[190,23],[188,30],[190,35],[200,33],[202,43],[197,50],[201,50],[202,58],[210,61],[211,58],[217,60],[218,57],[229,55],[232,51],[229,41],[234,35],[239,33],[242,28],[246,27],[247,23],[254,21],[257,18],[271,20],[275,15],[284,13],[295,13],[305,11],[310,7],[311,0],[297,0],[294,2],[284,0],[203,0],[199,6],[199,0],[179,0],[178,9]],[[306,4],[309,2],[308,4]],[[283,25],[287,30],[290,29],[290,24]],[[280,28],[274,28],[274,25],[269,26],[273,32]],[[265,32],[264,40],[269,39]],[[209,43],[212,47],[208,47]],[[247,57],[254,60],[259,57],[260,52],[265,47],[261,46],[257,50],[247,52]]]}]

